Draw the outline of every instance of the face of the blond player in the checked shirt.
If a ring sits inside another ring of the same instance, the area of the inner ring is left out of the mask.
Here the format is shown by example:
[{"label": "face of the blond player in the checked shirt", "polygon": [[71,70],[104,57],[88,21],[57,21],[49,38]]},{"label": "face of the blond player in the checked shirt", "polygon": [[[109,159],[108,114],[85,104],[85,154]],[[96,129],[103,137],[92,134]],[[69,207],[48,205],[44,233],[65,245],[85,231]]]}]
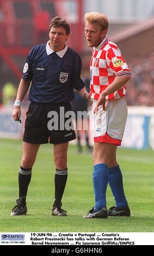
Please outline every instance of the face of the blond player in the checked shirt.
[{"label": "face of the blond player in the checked shirt", "polygon": [[97,23],[85,23],[85,37],[87,40],[88,47],[97,47],[99,44],[101,44],[101,41],[106,36],[107,30],[104,29],[102,31],[101,26]]}]

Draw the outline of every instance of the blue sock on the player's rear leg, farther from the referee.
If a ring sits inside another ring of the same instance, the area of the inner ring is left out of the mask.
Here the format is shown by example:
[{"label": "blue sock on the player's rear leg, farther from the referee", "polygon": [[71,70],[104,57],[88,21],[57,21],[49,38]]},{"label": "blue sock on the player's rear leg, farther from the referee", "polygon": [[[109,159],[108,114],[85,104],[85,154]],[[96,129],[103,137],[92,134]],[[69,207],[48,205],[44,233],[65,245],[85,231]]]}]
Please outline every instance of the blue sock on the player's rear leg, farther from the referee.
[{"label": "blue sock on the player's rear leg, farther from the referee", "polygon": [[125,208],[128,204],[124,193],[122,173],[119,165],[109,168],[109,185],[115,199],[115,206]]}]

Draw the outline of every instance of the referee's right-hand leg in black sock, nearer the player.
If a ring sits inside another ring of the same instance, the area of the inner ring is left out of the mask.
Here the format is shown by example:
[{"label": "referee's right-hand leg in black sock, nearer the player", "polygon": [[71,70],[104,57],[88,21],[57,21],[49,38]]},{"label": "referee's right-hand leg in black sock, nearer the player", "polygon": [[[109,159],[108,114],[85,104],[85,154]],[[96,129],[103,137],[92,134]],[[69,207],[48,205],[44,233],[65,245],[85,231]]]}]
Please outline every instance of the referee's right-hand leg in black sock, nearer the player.
[{"label": "referee's right-hand leg in black sock, nearer the player", "polygon": [[54,144],[54,163],[56,173],[54,176],[55,195],[52,215],[66,216],[66,211],[61,209],[61,199],[67,181],[67,148],[69,142]]}]

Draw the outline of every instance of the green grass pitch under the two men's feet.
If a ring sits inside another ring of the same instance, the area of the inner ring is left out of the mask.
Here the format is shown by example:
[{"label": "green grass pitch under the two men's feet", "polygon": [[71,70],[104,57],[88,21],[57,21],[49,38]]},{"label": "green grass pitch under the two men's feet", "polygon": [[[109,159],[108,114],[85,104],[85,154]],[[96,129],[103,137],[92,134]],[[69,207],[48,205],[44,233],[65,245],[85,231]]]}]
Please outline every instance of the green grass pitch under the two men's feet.
[{"label": "green grass pitch under the two men's feet", "polygon": [[[69,176],[62,209],[67,217],[51,215],[54,198],[54,163],[52,145],[41,145],[33,167],[27,195],[26,216],[10,216],[18,195],[18,170],[22,142],[0,139],[0,232],[153,232],[154,231],[154,152],[118,149],[125,194],[131,217],[84,219],[94,206],[92,156],[76,153],[69,146]],[[107,207],[114,205],[110,188]]]}]

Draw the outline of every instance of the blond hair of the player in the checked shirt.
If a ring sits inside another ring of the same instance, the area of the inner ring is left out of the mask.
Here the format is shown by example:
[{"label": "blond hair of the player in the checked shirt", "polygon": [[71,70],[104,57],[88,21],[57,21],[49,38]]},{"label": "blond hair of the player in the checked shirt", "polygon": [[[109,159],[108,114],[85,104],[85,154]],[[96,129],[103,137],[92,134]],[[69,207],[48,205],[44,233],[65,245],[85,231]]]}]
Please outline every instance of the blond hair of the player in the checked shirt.
[{"label": "blond hair of the player in the checked shirt", "polygon": [[101,13],[86,13],[84,15],[84,21],[90,23],[97,23],[102,27],[102,30],[108,29],[108,19],[106,15]]}]

